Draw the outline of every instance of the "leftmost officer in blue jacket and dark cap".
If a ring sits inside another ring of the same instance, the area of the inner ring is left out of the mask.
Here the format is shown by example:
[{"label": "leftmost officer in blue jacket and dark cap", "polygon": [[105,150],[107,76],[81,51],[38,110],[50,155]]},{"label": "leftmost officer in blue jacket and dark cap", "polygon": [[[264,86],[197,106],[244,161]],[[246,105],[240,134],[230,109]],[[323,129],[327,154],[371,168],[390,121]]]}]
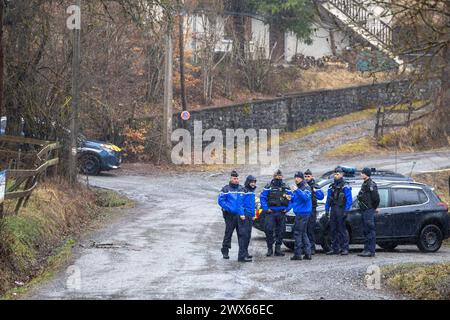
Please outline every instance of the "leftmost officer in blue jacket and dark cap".
[{"label": "leftmost officer in blue jacket and dark cap", "polygon": [[244,216],[242,206],[243,193],[244,188],[239,184],[239,175],[233,170],[229,184],[222,188],[218,199],[225,220],[225,235],[222,243],[222,255],[224,259],[230,259],[228,253],[231,249],[231,238],[235,229],[236,232],[239,232],[239,220]]}]

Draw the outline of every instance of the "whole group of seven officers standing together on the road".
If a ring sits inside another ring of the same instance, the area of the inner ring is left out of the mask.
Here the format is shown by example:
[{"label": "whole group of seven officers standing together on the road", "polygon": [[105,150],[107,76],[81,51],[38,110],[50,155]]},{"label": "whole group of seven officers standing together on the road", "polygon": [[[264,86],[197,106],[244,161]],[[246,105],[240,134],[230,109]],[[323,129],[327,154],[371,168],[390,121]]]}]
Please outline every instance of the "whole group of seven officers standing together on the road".
[{"label": "whole group of seven officers standing together on the road", "polygon": [[[375,214],[380,203],[376,183],[370,178],[372,171],[364,168],[361,176],[364,180],[358,194],[358,203],[362,212],[362,225],[365,237],[364,250],[359,256],[374,257],[376,246]],[[291,260],[311,260],[316,244],[314,226],[317,219],[317,200],[325,195],[316,184],[312,172],[297,172],[295,185],[289,188],[283,182],[280,170],[274,173],[272,181],[260,194],[261,209],[265,212],[264,231],[267,241],[267,257],[284,256],[281,251],[285,230],[285,214],[291,209],[295,214],[294,256]],[[238,261],[251,262],[248,252],[253,221],[256,213],[256,178],[248,176],[244,186],[239,184],[239,175],[231,172],[228,185],[219,194],[218,203],[225,220],[225,235],[222,243],[222,255],[229,259],[231,239],[236,230],[239,243]],[[330,221],[331,250],[327,255],[348,255],[349,238],[345,227],[346,213],[352,207],[351,186],[344,180],[344,172],[337,167],[334,181],[328,188],[325,212]],[[274,251],[275,245],[275,251]]]}]

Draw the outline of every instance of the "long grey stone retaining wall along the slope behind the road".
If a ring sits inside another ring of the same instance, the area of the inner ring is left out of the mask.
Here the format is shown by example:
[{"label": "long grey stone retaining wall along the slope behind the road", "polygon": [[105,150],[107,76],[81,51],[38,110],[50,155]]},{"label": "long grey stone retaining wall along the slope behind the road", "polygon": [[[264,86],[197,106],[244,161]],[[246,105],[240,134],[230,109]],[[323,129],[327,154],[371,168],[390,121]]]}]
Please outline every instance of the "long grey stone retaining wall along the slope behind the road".
[{"label": "long grey stone retaining wall along the slope behind the road", "polygon": [[[415,84],[411,90],[409,81],[395,81],[293,94],[226,107],[210,107],[192,111],[186,128],[193,132],[194,121],[202,121],[203,130],[254,128],[294,131],[368,107],[428,98],[437,87],[436,82],[430,81]],[[174,114],[174,129],[181,128],[182,122],[180,114]]]}]

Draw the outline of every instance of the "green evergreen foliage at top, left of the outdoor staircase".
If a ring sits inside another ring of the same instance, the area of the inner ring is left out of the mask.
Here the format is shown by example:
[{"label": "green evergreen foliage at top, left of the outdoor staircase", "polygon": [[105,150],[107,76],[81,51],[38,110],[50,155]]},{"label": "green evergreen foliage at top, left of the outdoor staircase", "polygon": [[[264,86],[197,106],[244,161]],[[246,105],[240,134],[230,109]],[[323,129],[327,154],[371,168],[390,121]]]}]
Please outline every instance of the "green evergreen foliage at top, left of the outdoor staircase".
[{"label": "green evergreen foliage at top, left of the outdoor staircase", "polygon": [[307,44],[312,43],[315,5],[311,0],[251,0],[255,9],[268,16],[271,25],[292,31]]}]

